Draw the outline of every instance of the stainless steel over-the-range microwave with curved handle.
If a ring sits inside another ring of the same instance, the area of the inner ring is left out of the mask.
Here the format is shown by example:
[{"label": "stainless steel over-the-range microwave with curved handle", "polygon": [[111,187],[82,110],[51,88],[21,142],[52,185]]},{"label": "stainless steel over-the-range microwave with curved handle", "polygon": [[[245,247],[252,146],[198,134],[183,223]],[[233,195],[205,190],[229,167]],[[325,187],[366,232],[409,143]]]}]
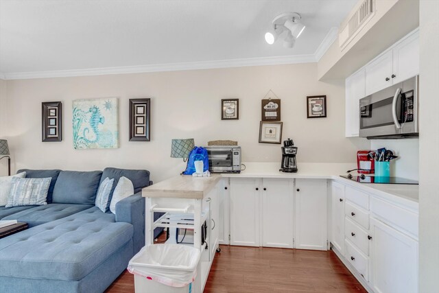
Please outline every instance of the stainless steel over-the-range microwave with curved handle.
[{"label": "stainless steel over-the-range microwave with curved handle", "polygon": [[418,137],[416,75],[359,100],[359,136],[368,139]]}]

